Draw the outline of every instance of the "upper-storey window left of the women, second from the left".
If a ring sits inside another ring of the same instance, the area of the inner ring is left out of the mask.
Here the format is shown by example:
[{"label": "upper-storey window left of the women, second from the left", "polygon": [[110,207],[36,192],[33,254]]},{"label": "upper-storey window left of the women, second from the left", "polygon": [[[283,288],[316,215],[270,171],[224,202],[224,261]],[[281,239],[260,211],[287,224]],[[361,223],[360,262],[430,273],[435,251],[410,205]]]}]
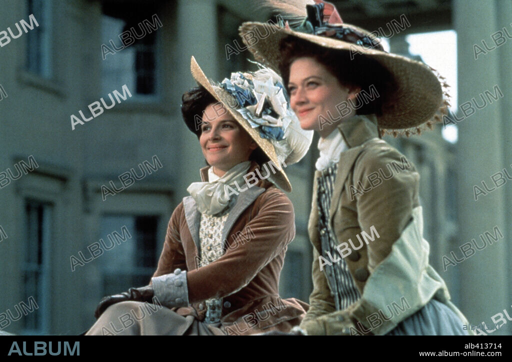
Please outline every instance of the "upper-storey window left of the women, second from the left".
[{"label": "upper-storey window left of the women, second from the left", "polygon": [[102,95],[126,84],[139,101],[155,99],[160,27],[162,23],[156,10],[123,13],[118,6],[104,5],[101,19]]}]

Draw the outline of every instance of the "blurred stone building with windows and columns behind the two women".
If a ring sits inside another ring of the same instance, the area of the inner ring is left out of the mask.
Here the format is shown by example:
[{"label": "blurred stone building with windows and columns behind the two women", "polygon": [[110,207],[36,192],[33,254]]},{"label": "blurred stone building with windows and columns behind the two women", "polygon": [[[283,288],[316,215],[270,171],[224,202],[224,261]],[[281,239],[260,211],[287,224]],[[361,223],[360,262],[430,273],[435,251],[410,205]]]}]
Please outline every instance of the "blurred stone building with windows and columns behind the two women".
[{"label": "blurred stone building with windows and columns behind the two women", "polygon": [[[388,50],[425,61],[450,84],[459,122],[386,140],[420,173],[430,262],[453,302],[489,331],[492,317],[506,312],[508,323],[493,334],[512,334],[512,183],[491,179],[512,175],[512,1],[333,3],[345,22],[377,31]],[[0,329],[76,334],[94,323],[102,296],[149,282],[170,215],[205,165],[180,113],[182,93],[195,85],[190,56],[216,80],[254,70],[238,27],[277,14],[251,6],[245,0],[0,0],[0,313],[7,316],[0,314]],[[32,30],[30,14],[38,23]],[[498,31],[504,42],[492,37]],[[100,98],[110,107],[123,86],[131,97],[117,97],[115,107],[83,124],[75,120],[72,130],[71,115],[92,117],[88,105]],[[488,101],[466,117],[460,105],[467,109],[475,99]],[[316,143],[286,168],[297,236],[281,293],[306,302]],[[131,169],[146,176],[125,188],[119,175]],[[102,195],[102,185],[112,189],[109,181],[117,191],[105,195],[103,188]],[[475,185],[486,194],[477,201]],[[464,258],[459,247],[472,239],[480,245],[480,236],[489,240],[485,232],[498,240]],[[92,258],[94,243],[110,249]],[[20,303],[29,305],[31,297],[37,308],[25,313]]]}]

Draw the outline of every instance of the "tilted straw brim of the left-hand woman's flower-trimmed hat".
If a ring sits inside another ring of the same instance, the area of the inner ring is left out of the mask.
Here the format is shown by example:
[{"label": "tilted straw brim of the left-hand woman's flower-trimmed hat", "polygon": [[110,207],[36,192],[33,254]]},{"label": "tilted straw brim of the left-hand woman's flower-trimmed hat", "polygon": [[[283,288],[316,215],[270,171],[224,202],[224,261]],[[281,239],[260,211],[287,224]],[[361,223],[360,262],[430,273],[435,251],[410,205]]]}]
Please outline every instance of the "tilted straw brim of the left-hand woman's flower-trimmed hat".
[{"label": "tilted straw brim of the left-hand woman's flower-trimmed hat", "polygon": [[[276,183],[283,190],[290,192],[292,190],[290,180],[286,176],[281,163],[275,154],[275,149],[272,143],[261,137],[257,129],[253,129],[249,122],[237,111],[237,100],[229,94],[225,89],[217,86],[214,82],[210,81],[204,74],[201,67],[197,63],[194,57],[190,59],[190,72],[194,79],[203,86],[208,93],[210,93],[215,99],[222,103],[224,108],[231,114],[231,116],[243,127],[243,129],[251,136],[251,138],[258,144],[261,150],[267,155],[267,157],[276,166],[276,172],[272,175],[272,181]],[[263,165],[260,165],[263,166]],[[271,167],[272,168],[272,167]],[[273,168],[272,168],[273,169]],[[270,173],[270,171],[269,171]]]}]

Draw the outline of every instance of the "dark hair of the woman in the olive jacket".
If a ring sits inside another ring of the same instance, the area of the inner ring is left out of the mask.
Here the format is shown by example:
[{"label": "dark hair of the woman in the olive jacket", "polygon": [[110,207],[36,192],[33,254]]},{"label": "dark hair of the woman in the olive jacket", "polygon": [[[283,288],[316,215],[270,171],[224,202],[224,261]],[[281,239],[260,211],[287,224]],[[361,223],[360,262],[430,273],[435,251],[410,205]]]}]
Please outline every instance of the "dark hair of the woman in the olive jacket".
[{"label": "dark hair of the woman in the olive jacket", "polygon": [[[395,87],[393,75],[378,61],[364,54],[328,49],[293,36],[281,40],[280,52],[279,70],[287,89],[291,63],[301,57],[313,58],[335,76],[342,86],[361,89],[354,102],[358,107],[356,113],[359,115],[380,115],[389,90]],[[378,93],[374,100],[367,102],[367,97],[364,97],[364,100],[360,99],[361,94],[373,98],[374,91]]]}]

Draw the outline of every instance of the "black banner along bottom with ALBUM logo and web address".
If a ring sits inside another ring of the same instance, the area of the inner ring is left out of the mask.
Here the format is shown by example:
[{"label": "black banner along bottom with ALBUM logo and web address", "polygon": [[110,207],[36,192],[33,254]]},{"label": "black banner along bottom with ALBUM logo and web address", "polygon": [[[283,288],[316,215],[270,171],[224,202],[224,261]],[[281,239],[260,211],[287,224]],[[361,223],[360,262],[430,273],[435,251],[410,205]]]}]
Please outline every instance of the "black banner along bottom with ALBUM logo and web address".
[{"label": "black banner along bottom with ALBUM logo and web address", "polygon": [[[278,336],[275,336],[278,337]],[[291,337],[291,336],[290,336]],[[312,336],[309,336],[312,337]],[[333,338],[337,342],[333,345]],[[301,338],[302,339],[302,338]],[[174,340],[173,336],[144,336],[105,338],[94,336],[20,336],[4,335],[0,337],[0,356],[101,356],[101,357],[136,357],[138,355],[147,359],[160,355],[172,357],[173,353],[185,353],[188,344],[197,344],[197,341],[183,339]],[[209,345],[211,344],[211,348]],[[221,347],[222,346],[222,347]],[[271,353],[279,351],[283,357],[303,353],[317,354],[318,358],[325,355],[340,356],[344,351],[358,350],[365,357],[382,357],[383,354],[400,357],[451,357],[451,356],[489,356],[509,357],[510,336],[387,336],[367,338],[354,338],[353,336],[316,336],[316,342],[304,341],[297,343],[295,338],[266,338],[255,341],[254,338],[238,339],[237,343],[222,343],[207,338],[201,340],[201,348],[194,347],[191,353],[194,357],[204,354],[211,356],[214,351],[225,352],[231,349],[243,351],[254,357],[258,353]],[[267,350],[267,352],[265,352]],[[262,356],[262,357],[268,357]],[[244,358],[239,354],[237,359]]]}]

